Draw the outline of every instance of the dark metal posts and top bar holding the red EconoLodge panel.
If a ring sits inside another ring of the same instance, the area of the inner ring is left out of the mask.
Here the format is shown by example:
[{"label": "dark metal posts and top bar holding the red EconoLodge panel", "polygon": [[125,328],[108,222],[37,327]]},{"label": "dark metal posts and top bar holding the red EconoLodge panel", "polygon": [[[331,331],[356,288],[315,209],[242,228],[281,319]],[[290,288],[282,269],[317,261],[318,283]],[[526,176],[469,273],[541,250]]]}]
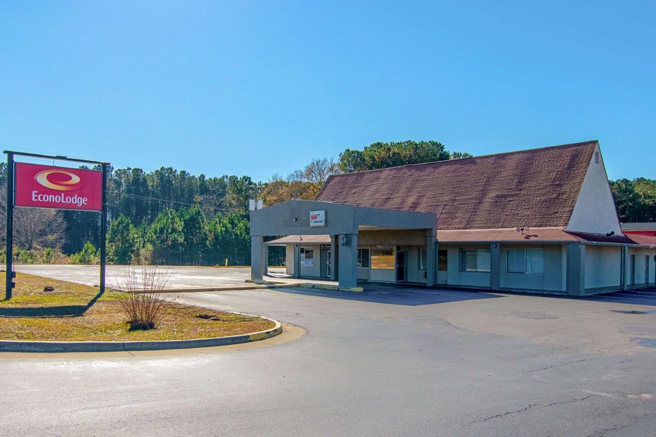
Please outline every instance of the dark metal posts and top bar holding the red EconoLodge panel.
[{"label": "dark metal posts and top bar holding the red EconoLodge panel", "polygon": [[16,286],[14,283],[15,274],[13,270],[14,156],[16,155],[44,159],[55,159],[57,161],[96,164],[102,167],[102,211],[100,211],[100,293],[104,293],[107,261],[107,173],[110,163],[107,161],[93,161],[91,159],[78,159],[68,156],[52,156],[31,154],[27,152],[14,152],[12,150],[4,150],[3,153],[7,154],[7,247],[5,249],[5,299],[11,299],[12,289]]}]

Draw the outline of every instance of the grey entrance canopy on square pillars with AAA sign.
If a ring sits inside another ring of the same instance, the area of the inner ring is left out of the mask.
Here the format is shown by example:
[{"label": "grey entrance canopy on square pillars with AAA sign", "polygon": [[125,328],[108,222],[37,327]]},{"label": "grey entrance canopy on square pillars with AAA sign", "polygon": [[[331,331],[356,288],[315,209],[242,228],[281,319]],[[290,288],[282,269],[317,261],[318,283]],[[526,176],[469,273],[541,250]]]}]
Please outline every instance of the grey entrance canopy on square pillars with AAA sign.
[{"label": "grey entrance canopy on square pillars with AAA sign", "polygon": [[[361,230],[413,230],[415,233],[424,230],[427,264],[434,267],[437,224],[435,213],[394,211],[310,200],[277,203],[251,212],[251,278],[262,280],[266,270],[265,236],[293,236],[291,239],[303,236],[306,239],[326,239],[331,245],[335,261],[331,276],[339,281],[340,287],[356,287],[358,232]],[[295,263],[297,256],[300,255],[295,253]],[[432,285],[434,268],[427,275],[427,284]]]}]

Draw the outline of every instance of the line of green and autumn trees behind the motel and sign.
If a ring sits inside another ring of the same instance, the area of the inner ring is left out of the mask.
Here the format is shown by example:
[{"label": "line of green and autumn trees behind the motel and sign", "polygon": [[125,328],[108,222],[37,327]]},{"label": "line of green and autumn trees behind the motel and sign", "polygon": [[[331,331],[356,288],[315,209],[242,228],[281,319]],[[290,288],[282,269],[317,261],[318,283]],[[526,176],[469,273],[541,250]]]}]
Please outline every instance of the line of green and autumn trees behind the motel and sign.
[{"label": "line of green and autumn trees behind the motel and sign", "polygon": [[[231,265],[250,263],[249,199],[273,205],[291,199],[314,199],[330,175],[470,157],[449,152],[437,141],[375,142],[362,150],[346,149],[337,160],[314,159],[288,175],[267,182],[248,176],[191,175],[172,167],[108,173],[108,261],[115,264]],[[87,168],[87,167],[83,167]],[[99,167],[94,167],[99,170]],[[0,164],[0,186],[7,182]],[[6,189],[0,188],[0,220]],[[611,181],[623,222],[656,221],[656,180]],[[4,245],[5,226],[0,226]],[[100,215],[50,209],[14,210],[17,262],[98,262]],[[0,252],[0,260],[4,256]],[[272,264],[284,255],[272,251]]]}]

